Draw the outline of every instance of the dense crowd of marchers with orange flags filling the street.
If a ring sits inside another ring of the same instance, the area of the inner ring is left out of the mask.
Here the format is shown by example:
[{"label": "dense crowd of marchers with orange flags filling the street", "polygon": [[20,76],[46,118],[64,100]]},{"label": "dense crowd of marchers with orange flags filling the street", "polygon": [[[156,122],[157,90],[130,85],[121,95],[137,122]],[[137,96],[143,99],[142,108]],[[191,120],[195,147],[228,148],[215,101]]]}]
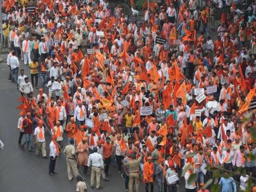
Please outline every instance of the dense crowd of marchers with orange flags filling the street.
[{"label": "dense crowd of marchers with orange flags filling the street", "polygon": [[129,192],[256,191],[254,2],[157,0],[142,19],[129,3],[4,1],[20,147],[50,176],[63,152],[76,191],[111,165]]}]

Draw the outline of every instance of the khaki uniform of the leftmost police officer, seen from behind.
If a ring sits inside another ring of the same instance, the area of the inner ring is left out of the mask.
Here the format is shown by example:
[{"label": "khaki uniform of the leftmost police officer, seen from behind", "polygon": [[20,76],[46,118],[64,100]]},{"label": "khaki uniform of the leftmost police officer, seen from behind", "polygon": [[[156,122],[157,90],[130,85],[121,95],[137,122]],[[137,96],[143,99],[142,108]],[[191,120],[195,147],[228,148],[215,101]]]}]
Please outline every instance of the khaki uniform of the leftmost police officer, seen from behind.
[{"label": "khaki uniform of the leftmost police officer, seen from behind", "polygon": [[64,154],[66,155],[66,165],[68,166],[68,180],[72,180],[73,176],[71,174],[71,169],[74,176],[78,175],[77,163],[74,155],[76,154],[76,148],[69,144],[64,149]]}]

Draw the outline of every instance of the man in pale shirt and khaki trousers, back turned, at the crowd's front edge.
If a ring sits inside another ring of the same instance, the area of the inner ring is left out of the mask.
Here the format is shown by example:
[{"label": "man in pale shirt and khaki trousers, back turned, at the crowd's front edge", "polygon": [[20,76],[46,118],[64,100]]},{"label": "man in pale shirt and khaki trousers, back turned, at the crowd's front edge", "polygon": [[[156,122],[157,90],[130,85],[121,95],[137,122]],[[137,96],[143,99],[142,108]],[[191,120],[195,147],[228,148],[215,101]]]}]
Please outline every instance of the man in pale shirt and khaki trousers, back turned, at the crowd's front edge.
[{"label": "man in pale shirt and khaki trousers, back turned, at the crowd's front edge", "polygon": [[103,187],[100,185],[101,169],[104,169],[104,163],[101,154],[98,154],[98,148],[93,147],[93,154],[89,155],[88,167],[91,166],[91,188],[94,188],[94,179],[96,177],[96,189],[101,190]]}]

